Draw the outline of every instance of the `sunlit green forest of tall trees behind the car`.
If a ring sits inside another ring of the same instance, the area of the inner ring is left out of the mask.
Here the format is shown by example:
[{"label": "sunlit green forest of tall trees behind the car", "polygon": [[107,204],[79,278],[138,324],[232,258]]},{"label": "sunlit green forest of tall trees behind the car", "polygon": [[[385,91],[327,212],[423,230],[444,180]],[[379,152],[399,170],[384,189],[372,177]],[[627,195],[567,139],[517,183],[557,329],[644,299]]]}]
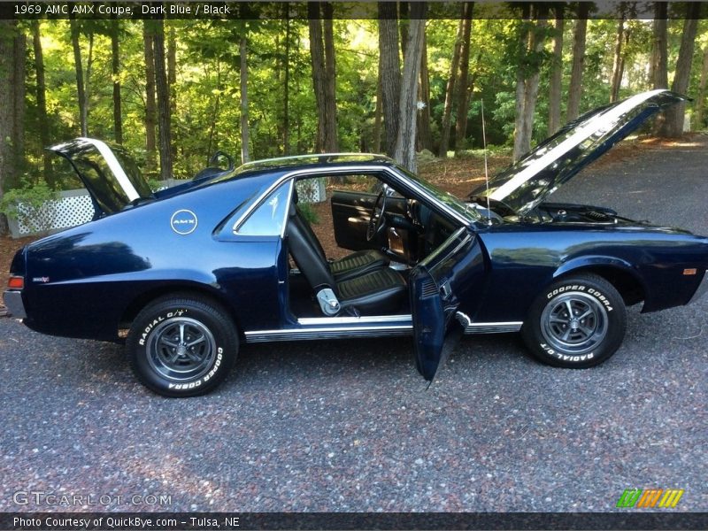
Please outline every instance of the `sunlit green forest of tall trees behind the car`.
[{"label": "sunlit green forest of tall trees behind the car", "polygon": [[482,147],[482,102],[489,150],[512,158],[646,89],[694,99],[656,135],[706,128],[705,3],[448,3],[457,18],[438,18],[387,2],[358,19],[346,3],[231,5],[226,20],[0,20],[0,198],[79,188],[44,149],[76,136],[189,179],[216,150],[380,152],[415,170],[423,150]]}]

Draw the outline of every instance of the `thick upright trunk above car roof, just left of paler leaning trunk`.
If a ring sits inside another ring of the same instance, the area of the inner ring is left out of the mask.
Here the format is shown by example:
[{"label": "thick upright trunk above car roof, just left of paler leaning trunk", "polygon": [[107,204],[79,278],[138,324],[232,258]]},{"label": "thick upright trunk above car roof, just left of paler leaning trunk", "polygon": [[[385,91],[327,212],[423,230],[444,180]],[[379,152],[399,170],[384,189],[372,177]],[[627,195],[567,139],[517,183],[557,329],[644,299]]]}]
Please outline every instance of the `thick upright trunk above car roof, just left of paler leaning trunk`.
[{"label": "thick upright trunk above car roof, just left of paler leaning trunk", "polygon": [[398,101],[401,95],[401,60],[398,55],[396,4],[379,2],[379,57],[381,105],[386,132],[384,152],[392,156],[398,135]]}]

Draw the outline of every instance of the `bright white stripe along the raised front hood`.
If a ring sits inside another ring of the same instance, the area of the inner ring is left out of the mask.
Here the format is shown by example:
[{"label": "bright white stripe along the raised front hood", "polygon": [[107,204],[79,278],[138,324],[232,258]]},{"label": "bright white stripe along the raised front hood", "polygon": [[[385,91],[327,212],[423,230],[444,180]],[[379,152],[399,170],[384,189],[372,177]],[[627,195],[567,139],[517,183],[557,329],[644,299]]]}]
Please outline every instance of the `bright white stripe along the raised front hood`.
[{"label": "bright white stripe along the raised front hood", "polygon": [[573,136],[559,143],[558,146],[545,153],[543,157],[538,158],[530,165],[527,165],[527,167],[514,175],[511,180],[505,182],[504,185],[494,190],[494,192],[489,195],[489,198],[495,201],[504,201],[506,196],[511,194],[515,189],[518,189],[523,183],[534,177],[535,174],[543,170],[544,167],[550,165],[553,161],[558,160],[558,158],[561,158],[575,146],[587,140],[590,136],[595,135],[596,133],[609,131],[612,127],[617,125],[617,121],[621,119],[625,113],[633,110],[636,106],[643,104],[651,97],[661,94],[665,90],[666,89],[656,89],[637,94],[627,98],[627,100],[616,107],[598,114],[595,118],[590,120],[589,124],[586,124],[584,127],[581,127],[578,131],[576,131]]}]

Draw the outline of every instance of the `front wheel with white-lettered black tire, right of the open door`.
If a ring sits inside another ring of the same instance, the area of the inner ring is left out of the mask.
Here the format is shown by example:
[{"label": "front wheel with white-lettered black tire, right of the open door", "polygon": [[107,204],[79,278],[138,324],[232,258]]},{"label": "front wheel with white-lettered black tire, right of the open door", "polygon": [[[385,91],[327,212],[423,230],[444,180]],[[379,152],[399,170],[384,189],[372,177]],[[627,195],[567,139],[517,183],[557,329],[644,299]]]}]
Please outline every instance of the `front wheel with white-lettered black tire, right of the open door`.
[{"label": "front wheel with white-lettered black tire, right of the open door", "polygon": [[531,305],[521,335],[543,363],[584,369],[610,358],[626,327],[627,310],[617,289],[585,273],[544,289]]}]

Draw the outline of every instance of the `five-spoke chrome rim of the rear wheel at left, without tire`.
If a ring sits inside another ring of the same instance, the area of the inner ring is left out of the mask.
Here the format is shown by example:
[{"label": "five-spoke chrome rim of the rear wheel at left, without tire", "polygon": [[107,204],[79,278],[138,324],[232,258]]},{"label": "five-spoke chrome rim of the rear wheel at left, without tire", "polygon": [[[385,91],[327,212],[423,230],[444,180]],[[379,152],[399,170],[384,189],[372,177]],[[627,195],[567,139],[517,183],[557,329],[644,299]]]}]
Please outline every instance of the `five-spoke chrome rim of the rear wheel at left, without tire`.
[{"label": "five-spoke chrome rim of the rear wheel at left, without tire", "polygon": [[150,332],[146,344],[152,369],[171,381],[192,381],[204,376],[216,358],[212,332],[187,317],[165,319]]}]

